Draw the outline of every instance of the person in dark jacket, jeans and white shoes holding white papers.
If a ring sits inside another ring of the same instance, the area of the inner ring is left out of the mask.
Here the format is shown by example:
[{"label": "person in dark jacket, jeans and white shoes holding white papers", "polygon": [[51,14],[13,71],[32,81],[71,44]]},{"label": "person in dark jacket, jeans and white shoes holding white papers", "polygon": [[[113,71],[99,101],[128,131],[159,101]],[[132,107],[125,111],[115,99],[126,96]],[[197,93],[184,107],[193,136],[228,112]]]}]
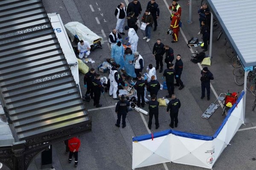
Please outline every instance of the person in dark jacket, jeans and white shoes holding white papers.
[{"label": "person in dark jacket, jeans and white shoes holding white papers", "polygon": [[147,42],[148,42],[150,41],[151,27],[154,23],[154,19],[148,9],[146,9],[145,13],[143,14],[141,22],[146,23],[147,25],[145,28],[145,37],[143,37],[143,40],[147,39]]}]

